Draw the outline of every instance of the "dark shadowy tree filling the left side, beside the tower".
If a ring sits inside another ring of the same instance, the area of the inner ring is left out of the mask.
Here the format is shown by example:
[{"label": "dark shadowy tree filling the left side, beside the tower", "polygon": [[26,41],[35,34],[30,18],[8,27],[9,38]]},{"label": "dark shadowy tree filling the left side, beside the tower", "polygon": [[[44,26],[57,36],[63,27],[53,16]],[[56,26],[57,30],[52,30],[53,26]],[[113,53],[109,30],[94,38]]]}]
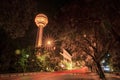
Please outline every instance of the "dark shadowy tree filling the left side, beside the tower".
[{"label": "dark shadowy tree filling the left side, beside the tower", "polygon": [[2,0],[0,12],[0,72],[14,72],[15,50],[28,46],[25,36],[34,23],[36,3],[32,0]]}]

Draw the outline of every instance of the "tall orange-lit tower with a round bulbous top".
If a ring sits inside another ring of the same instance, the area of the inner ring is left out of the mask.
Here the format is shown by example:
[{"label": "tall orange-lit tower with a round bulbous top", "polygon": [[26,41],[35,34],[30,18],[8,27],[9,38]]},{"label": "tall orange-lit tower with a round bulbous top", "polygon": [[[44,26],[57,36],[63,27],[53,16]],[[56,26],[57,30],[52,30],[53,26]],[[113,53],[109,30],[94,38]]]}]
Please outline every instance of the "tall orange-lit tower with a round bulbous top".
[{"label": "tall orange-lit tower with a round bulbous top", "polygon": [[38,14],[35,17],[35,23],[38,27],[35,48],[39,49],[42,46],[43,28],[48,23],[48,17],[45,14]]}]

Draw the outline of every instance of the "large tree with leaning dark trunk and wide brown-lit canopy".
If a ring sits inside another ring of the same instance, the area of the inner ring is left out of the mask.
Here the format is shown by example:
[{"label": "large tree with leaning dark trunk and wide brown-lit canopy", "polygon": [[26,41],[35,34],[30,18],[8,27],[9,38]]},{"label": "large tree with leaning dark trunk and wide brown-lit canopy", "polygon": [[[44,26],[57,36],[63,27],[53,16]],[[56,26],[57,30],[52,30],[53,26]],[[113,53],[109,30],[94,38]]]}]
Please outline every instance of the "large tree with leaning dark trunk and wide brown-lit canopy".
[{"label": "large tree with leaning dark trunk and wide brown-lit canopy", "polygon": [[[59,13],[59,16],[62,16],[59,21],[63,26],[60,34],[62,47],[71,54],[73,52],[81,54],[86,63],[91,63],[89,65],[96,65],[95,69],[100,78],[105,80],[100,62],[110,51],[114,41],[113,36],[102,22],[107,17],[103,7],[108,3],[100,1],[101,4],[99,4],[94,1],[92,5],[84,3],[85,5],[79,6],[79,1],[76,1],[61,8]],[[96,8],[96,5],[100,6]]]}]

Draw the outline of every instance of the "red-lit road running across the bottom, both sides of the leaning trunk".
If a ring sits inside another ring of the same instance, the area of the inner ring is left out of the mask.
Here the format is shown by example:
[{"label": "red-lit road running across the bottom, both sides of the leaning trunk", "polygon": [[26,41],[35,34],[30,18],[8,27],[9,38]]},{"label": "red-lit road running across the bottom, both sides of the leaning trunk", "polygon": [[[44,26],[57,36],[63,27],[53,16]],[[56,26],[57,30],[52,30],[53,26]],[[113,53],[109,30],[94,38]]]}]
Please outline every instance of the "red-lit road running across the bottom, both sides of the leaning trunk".
[{"label": "red-lit road running across the bottom, both sides of the leaning trunk", "polygon": [[[78,70],[77,70],[78,71]],[[76,70],[59,72],[42,72],[25,75],[2,76],[0,80],[100,80],[96,73],[78,73]],[[120,77],[107,74],[108,80],[120,80]]]}]

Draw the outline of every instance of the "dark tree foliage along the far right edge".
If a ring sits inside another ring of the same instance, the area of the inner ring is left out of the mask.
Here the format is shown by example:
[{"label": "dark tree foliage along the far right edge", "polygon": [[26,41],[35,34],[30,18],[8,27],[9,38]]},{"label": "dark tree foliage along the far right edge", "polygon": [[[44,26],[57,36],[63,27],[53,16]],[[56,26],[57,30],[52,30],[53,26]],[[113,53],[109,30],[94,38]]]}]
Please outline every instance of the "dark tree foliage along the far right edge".
[{"label": "dark tree foliage along the far right edge", "polygon": [[[120,7],[119,7],[120,1],[109,1],[109,6],[106,6],[105,12],[107,13],[106,19],[103,20],[104,28],[107,29],[113,37],[113,41],[111,42],[111,48],[109,50],[109,53],[111,56],[111,64],[113,64],[113,70],[114,68],[120,69],[119,67],[119,61],[116,61],[116,59],[119,59],[119,45],[120,45]],[[116,62],[116,63],[115,63]],[[114,71],[118,71],[114,70]]]}]

